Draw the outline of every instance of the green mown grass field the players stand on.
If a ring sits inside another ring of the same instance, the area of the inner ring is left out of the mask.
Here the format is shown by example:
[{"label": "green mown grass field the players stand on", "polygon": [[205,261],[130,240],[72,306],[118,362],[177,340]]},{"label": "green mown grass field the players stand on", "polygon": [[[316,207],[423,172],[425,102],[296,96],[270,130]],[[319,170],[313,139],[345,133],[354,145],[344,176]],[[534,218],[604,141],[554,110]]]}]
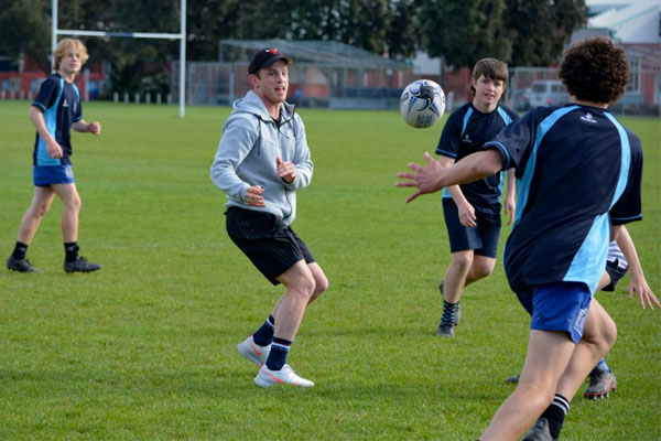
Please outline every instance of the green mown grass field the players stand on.
[{"label": "green mown grass field the players stand on", "polygon": [[[0,101],[0,258],[32,195],[28,101]],[[512,387],[529,319],[499,263],[463,298],[457,338],[434,335],[449,261],[440,196],[404,205],[407,162],[441,126],[395,111],[302,109],[315,162],[296,232],[330,289],[306,313],[290,361],[316,387],[260,389],[236,344],[282,292],[225,233],[208,169],[228,108],[89,104],[101,137],[74,135],[82,254],[105,268],[65,275],[56,201],[30,248],[45,272],[0,269],[2,440],[475,440]],[[661,123],[622,120],[643,140],[644,222],[629,227],[661,294]],[[503,238],[507,235],[503,230]],[[661,316],[599,300],[619,326],[618,392],[577,397],[566,440],[659,440]],[[581,390],[582,392],[582,390]]]}]

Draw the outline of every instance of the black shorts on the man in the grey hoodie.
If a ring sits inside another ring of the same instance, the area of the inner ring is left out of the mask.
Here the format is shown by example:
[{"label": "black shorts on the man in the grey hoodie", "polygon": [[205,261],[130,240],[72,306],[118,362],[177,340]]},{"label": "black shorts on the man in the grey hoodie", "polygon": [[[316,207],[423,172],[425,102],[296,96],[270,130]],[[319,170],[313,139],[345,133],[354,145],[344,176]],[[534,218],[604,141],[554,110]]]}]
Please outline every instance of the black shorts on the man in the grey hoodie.
[{"label": "black shorts on the man in the grey hoodie", "polygon": [[280,283],[275,278],[297,261],[315,261],[305,243],[275,215],[229,207],[225,216],[229,238],[271,283]]}]

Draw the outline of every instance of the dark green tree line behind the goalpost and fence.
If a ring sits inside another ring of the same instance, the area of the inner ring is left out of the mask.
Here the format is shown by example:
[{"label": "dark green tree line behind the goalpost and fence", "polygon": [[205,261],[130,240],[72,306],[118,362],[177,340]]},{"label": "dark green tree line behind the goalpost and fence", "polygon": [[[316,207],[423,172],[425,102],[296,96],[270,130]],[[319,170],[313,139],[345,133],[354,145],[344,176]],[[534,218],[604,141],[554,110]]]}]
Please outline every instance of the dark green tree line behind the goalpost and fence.
[{"label": "dark green tree line behind the goalpost and fence", "polygon": [[[47,72],[51,14],[51,0],[0,0],[0,55],[30,56]],[[548,66],[586,18],[585,0],[188,0],[186,52],[191,61],[216,61],[223,39],[334,40],[394,60],[424,51],[453,67],[485,56]],[[58,28],[177,33],[180,0],[59,1]],[[124,90],[144,88],[144,62],[158,67],[178,57],[174,41],[85,42]]]}]

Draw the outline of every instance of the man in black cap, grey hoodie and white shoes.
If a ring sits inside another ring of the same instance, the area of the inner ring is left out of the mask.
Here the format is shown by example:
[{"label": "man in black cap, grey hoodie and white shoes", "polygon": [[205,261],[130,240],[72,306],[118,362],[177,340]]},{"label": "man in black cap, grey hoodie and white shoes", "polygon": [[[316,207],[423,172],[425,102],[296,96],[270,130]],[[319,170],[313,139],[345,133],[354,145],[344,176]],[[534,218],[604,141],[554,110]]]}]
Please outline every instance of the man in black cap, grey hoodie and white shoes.
[{"label": "man in black cap, grey hoodie and white shoes", "polygon": [[237,346],[260,366],[254,383],[312,387],[286,364],[290,345],[310,303],[328,280],[291,228],[296,190],[310,184],[313,163],[305,128],[286,104],[288,65],[278,50],[254,54],[248,67],[252,90],[234,103],[212,165],[212,181],[227,195],[227,234],[262,275],[286,291],[269,319]]}]

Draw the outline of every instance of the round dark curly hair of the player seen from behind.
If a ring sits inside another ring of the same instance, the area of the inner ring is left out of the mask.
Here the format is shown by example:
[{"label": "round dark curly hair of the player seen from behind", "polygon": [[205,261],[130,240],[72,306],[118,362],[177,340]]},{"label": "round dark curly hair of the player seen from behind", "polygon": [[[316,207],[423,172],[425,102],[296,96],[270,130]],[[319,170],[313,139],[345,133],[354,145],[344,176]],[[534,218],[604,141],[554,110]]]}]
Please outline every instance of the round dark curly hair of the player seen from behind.
[{"label": "round dark curly hair of the player seen from behind", "polygon": [[597,36],[567,50],[559,76],[570,95],[577,99],[611,104],[629,83],[629,62],[625,51],[610,40]]}]

